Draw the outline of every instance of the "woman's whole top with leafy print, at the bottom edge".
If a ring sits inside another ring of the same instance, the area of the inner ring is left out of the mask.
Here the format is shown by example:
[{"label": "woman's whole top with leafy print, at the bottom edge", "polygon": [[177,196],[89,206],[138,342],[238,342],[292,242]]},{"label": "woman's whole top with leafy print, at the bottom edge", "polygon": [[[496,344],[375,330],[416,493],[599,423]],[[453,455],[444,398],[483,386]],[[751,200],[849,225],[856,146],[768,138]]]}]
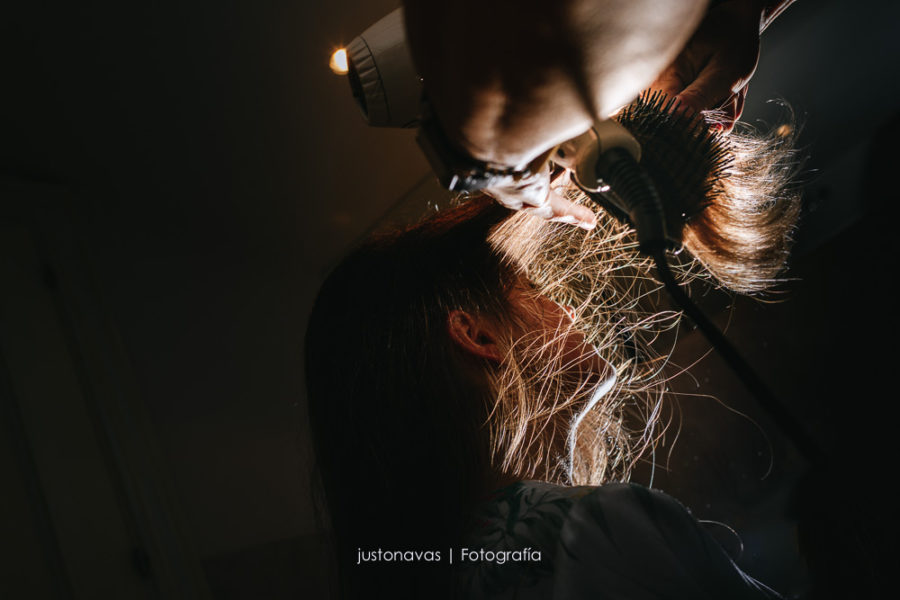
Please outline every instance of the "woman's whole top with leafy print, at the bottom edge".
[{"label": "woman's whole top with leafy print, at the bottom edge", "polygon": [[483,503],[463,545],[461,598],[779,598],[677,500],[635,484],[515,483]]}]

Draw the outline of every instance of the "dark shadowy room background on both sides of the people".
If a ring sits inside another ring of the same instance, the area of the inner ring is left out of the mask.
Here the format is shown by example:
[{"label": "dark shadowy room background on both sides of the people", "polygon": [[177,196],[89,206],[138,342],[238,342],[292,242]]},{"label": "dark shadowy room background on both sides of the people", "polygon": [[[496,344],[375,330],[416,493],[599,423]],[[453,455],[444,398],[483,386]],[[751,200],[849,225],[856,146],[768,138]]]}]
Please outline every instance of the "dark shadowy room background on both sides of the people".
[{"label": "dark shadowy room background on both sides of the people", "polygon": [[[355,240],[443,199],[327,66],[395,5],[2,9],[0,597],[326,594],[304,320]],[[784,98],[802,127],[792,279],[776,304],[705,300],[829,469],[809,479],[714,356],[673,388],[721,403],[683,395],[657,456],[654,485],[794,595],[878,597],[892,564],[897,22],[801,1],[766,33],[745,120]],[[688,332],[674,360],[706,349]]]}]

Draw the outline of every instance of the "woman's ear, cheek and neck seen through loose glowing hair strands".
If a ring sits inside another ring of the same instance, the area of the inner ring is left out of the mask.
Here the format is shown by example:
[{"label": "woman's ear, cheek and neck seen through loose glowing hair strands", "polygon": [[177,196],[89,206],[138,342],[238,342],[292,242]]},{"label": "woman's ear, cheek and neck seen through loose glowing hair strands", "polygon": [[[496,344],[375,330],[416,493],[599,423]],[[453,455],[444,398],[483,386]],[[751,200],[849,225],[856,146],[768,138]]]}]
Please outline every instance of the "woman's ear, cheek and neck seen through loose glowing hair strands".
[{"label": "woman's ear, cheek and neck seen through loose glowing hair strands", "polygon": [[542,294],[521,269],[513,281],[503,322],[454,310],[448,332],[458,348],[492,363],[483,436],[494,475],[569,483],[576,421],[611,389],[616,369],[587,341],[574,309]]}]

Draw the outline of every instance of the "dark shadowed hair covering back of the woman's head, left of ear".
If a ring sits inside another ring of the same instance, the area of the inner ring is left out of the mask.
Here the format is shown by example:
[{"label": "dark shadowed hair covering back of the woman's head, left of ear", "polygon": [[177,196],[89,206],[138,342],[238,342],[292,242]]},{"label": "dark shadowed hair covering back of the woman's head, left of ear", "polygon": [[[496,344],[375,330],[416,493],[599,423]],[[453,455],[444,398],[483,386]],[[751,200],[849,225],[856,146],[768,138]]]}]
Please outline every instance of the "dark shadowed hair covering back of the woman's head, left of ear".
[{"label": "dark shadowed hair covering back of the woman's head, left of ear", "polygon": [[447,315],[510,318],[515,275],[487,242],[508,215],[486,200],[467,203],[366,243],[322,286],[306,379],[345,591],[381,583],[415,594],[433,569],[358,567],[358,549],[446,553],[485,492],[493,367],[453,344]]}]

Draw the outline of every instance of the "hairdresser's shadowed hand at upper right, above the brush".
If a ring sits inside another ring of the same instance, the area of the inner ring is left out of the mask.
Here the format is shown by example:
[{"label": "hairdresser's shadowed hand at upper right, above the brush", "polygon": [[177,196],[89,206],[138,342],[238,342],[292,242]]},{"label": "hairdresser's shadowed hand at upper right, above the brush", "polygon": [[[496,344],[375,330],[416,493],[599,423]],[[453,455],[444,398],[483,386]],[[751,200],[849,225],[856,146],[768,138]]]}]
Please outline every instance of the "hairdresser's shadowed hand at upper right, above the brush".
[{"label": "hairdresser's shadowed hand at upper right, above the brush", "polygon": [[759,36],[794,0],[724,0],[712,6],[678,58],[651,89],[693,112],[715,110],[731,131],[759,60]]}]

